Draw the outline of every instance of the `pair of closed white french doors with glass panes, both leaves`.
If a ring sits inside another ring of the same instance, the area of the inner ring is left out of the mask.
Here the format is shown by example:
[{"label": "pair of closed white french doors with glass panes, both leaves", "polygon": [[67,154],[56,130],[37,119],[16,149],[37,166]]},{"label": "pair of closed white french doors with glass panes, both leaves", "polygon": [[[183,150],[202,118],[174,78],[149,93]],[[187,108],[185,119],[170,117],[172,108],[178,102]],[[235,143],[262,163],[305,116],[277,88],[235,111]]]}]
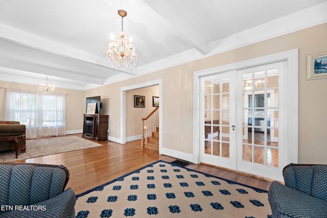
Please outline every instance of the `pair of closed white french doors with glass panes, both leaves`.
[{"label": "pair of closed white french doors with glass panes, both leaves", "polygon": [[286,75],[280,61],[200,78],[201,162],[282,180]]}]

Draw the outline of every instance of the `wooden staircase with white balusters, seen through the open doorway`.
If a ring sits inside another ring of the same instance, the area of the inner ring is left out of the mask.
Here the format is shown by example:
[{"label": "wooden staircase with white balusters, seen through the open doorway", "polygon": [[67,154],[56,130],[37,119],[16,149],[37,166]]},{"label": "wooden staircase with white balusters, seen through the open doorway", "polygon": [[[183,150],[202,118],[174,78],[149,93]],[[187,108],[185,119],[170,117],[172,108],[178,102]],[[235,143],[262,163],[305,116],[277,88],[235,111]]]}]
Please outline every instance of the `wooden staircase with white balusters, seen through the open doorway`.
[{"label": "wooden staircase with white balusters, seen through the open doorway", "polygon": [[159,106],[142,118],[142,148],[159,151]]}]

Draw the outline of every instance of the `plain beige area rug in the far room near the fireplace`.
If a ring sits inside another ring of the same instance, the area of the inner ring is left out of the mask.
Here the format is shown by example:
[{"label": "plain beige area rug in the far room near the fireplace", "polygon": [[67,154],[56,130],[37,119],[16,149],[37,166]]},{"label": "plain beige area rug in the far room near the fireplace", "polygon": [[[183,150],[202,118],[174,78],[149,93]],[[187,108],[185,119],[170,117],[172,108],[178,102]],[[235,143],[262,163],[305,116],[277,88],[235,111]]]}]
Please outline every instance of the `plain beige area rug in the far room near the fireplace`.
[{"label": "plain beige area rug in the far room near the fireplace", "polygon": [[20,153],[19,151],[18,158],[15,158],[15,150],[1,151],[0,162],[25,160],[33,157],[41,157],[45,155],[58,154],[68,151],[94,148],[99,146],[102,146],[102,144],[78,136],[27,139],[26,153]]}]

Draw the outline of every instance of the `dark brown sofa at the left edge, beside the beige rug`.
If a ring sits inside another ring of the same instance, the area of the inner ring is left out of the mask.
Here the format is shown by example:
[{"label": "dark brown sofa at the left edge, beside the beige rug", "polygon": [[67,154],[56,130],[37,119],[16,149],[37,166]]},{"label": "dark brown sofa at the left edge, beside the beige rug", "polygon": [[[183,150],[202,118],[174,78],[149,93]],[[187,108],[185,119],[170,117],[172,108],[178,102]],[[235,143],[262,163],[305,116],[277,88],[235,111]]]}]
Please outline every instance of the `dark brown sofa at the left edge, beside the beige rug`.
[{"label": "dark brown sofa at the left edge, beside the beige rug", "polygon": [[[6,123],[6,124],[4,124],[4,123]],[[25,135],[25,133],[26,133],[26,126],[20,124],[18,121],[2,121],[2,120],[0,120],[0,136]],[[0,151],[14,150],[15,148],[16,148],[15,141],[0,141]],[[25,152],[25,150],[26,150],[25,137],[20,140],[19,149],[21,152]]]}]

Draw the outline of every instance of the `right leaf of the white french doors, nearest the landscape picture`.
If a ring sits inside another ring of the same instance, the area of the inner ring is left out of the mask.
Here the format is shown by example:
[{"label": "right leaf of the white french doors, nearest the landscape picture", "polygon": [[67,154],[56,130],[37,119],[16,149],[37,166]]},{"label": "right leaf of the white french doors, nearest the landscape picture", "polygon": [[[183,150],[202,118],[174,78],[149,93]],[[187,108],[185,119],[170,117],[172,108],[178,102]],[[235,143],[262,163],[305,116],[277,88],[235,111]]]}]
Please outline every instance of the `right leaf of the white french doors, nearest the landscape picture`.
[{"label": "right leaf of the white french doors, nearest the landscape picture", "polygon": [[287,62],[238,70],[237,169],[282,180],[287,165]]}]

